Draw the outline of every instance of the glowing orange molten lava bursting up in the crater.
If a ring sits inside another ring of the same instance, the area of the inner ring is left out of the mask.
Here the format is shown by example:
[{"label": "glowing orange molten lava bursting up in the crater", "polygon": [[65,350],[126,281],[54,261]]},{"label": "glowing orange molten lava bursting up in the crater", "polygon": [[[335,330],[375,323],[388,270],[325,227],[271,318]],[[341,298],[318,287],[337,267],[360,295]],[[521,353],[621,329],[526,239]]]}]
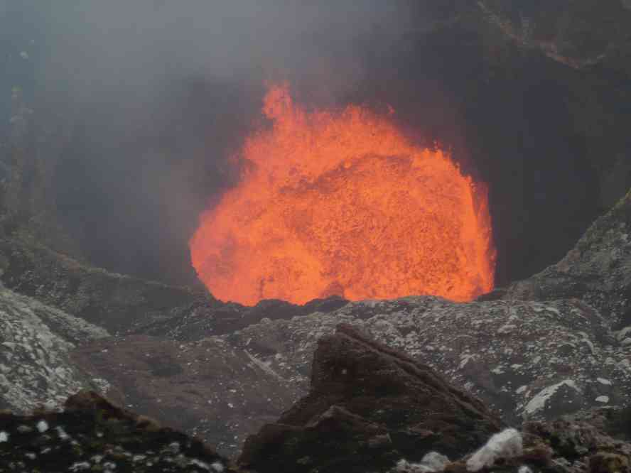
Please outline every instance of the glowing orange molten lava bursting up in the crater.
[{"label": "glowing orange molten lava bursting up in the crater", "polygon": [[215,297],[463,301],[493,288],[487,190],[444,151],[362,107],[305,112],[286,87],[269,90],[263,112],[271,129],[247,138],[239,185],[190,241]]}]

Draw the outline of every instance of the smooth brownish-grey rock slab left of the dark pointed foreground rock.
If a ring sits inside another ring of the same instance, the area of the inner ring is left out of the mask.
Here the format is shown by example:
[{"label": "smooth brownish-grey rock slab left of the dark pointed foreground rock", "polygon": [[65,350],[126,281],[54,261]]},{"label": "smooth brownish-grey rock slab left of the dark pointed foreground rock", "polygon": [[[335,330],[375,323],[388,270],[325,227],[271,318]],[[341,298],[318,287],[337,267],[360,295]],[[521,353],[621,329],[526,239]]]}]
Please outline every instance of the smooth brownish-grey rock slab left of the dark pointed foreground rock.
[{"label": "smooth brownish-grey rock slab left of the dark pointed foreground rock", "polygon": [[217,337],[188,343],[145,335],[100,339],[75,350],[72,361],[107,379],[109,398],[224,455],[237,455],[247,435],[302,394],[252,347],[235,348]]}]

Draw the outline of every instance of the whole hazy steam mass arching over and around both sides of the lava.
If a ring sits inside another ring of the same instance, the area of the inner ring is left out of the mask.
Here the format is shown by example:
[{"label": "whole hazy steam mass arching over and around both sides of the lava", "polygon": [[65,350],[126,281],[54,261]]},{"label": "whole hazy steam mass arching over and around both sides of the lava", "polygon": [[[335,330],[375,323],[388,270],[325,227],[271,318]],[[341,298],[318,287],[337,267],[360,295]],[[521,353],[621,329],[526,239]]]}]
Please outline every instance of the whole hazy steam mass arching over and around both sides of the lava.
[{"label": "whole hazy steam mass arching over and around both sides of the lava", "polygon": [[[500,3],[516,18],[543,5]],[[605,82],[485,18],[452,0],[0,0],[0,157],[19,86],[74,254],[192,283],[188,239],[234,184],[227,156],[267,125],[266,81],[307,108],[391,105],[406,136],[489,185],[502,285],[558,261],[601,211],[588,154],[603,140],[577,132],[576,90],[610,100],[603,120],[622,112]]]}]

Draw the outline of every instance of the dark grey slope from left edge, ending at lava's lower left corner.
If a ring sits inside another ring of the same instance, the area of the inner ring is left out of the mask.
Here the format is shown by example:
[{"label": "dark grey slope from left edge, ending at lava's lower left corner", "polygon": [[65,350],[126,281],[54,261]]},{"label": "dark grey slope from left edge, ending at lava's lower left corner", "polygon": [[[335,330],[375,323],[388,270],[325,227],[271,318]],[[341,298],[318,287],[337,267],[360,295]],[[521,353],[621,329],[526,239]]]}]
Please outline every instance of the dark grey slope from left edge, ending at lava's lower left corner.
[{"label": "dark grey slope from left edge, ending at lava's lower left corner", "polygon": [[201,291],[92,268],[26,239],[1,240],[0,255],[4,286],[112,333],[166,318],[196,301],[218,304]]}]

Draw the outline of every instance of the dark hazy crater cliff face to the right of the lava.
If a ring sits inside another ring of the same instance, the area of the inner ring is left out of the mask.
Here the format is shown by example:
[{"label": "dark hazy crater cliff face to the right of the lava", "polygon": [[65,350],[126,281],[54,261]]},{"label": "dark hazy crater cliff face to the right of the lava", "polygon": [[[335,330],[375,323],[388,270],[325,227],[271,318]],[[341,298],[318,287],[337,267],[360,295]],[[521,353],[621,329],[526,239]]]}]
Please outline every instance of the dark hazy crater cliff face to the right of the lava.
[{"label": "dark hazy crater cliff face to the right of the lava", "polygon": [[[591,0],[443,8],[406,48],[376,54],[388,85],[361,96],[387,96],[489,183],[504,285],[561,259],[631,185],[631,11]],[[419,18],[436,14],[419,6]]]}]

